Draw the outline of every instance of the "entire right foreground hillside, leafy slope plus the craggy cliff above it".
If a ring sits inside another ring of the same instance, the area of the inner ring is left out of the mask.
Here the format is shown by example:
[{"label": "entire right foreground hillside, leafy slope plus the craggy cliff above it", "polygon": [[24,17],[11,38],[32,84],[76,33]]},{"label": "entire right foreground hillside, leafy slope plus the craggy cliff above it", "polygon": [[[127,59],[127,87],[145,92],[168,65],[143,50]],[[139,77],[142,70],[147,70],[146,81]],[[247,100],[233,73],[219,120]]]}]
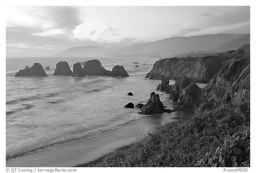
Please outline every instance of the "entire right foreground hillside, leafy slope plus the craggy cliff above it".
[{"label": "entire right foreground hillside, leafy slope plus the craggy cliff above it", "polygon": [[241,59],[224,66],[196,96],[190,88],[198,87],[191,83],[180,99],[191,104],[190,100],[199,96],[200,107],[191,119],[165,124],[125,149],[108,154],[96,166],[250,166],[249,63]]}]

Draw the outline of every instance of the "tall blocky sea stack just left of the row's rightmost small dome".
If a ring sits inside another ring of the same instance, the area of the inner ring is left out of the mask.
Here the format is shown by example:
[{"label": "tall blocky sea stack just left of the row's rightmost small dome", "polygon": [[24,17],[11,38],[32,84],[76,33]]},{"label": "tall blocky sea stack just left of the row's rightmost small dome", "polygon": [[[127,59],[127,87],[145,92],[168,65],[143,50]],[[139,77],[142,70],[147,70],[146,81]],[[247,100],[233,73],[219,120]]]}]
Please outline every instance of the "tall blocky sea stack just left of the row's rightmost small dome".
[{"label": "tall blocky sea stack just left of the row's rightmost small dome", "polygon": [[96,75],[96,76],[105,76],[106,69],[102,67],[99,60],[89,60],[84,63],[84,74],[87,75]]}]

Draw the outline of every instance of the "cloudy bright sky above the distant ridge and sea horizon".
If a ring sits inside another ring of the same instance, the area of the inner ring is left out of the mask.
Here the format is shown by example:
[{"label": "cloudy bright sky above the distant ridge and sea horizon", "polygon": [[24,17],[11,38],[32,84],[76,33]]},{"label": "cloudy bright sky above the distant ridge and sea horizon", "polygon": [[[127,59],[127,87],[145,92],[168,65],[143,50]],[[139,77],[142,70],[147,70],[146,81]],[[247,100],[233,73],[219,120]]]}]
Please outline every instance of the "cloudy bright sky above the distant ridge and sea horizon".
[{"label": "cloudy bright sky above the distant ridge and sea horizon", "polygon": [[8,6],[6,56],[130,46],[175,36],[250,33],[248,6]]}]

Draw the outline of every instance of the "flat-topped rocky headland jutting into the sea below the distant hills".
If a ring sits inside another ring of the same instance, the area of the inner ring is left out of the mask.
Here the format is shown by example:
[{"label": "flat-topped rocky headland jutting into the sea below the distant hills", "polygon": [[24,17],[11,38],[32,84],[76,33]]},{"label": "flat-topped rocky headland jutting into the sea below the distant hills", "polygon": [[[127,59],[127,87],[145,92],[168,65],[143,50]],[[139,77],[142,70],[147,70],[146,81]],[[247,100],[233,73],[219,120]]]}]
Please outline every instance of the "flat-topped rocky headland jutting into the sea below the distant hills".
[{"label": "flat-topped rocky headland jutting into the sea below the distant hills", "polygon": [[249,58],[249,53],[211,55],[206,57],[164,58],[155,62],[145,78],[161,80],[161,77],[177,80],[187,76],[191,82],[208,83],[222,67],[233,61]]}]

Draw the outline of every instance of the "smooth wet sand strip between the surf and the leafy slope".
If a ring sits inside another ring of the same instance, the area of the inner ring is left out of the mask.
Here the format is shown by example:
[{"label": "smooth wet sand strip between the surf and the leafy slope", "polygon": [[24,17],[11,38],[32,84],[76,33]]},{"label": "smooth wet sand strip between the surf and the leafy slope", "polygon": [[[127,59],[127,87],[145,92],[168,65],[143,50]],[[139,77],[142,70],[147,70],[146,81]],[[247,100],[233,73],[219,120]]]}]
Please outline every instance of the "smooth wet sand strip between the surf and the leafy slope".
[{"label": "smooth wet sand strip between the surf and the leafy slope", "polygon": [[[173,103],[164,103],[173,109]],[[137,138],[147,135],[161,125],[176,121],[176,119],[188,119],[192,111],[178,109],[176,112],[161,115],[144,116],[135,121],[126,123],[113,130],[104,131],[93,137],[85,137],[62,144],[46,147],[24,156],[12,158],[6,161],[7,167],[72,167],[88,166],[100,161],[105,154],[129,145]]]}]

